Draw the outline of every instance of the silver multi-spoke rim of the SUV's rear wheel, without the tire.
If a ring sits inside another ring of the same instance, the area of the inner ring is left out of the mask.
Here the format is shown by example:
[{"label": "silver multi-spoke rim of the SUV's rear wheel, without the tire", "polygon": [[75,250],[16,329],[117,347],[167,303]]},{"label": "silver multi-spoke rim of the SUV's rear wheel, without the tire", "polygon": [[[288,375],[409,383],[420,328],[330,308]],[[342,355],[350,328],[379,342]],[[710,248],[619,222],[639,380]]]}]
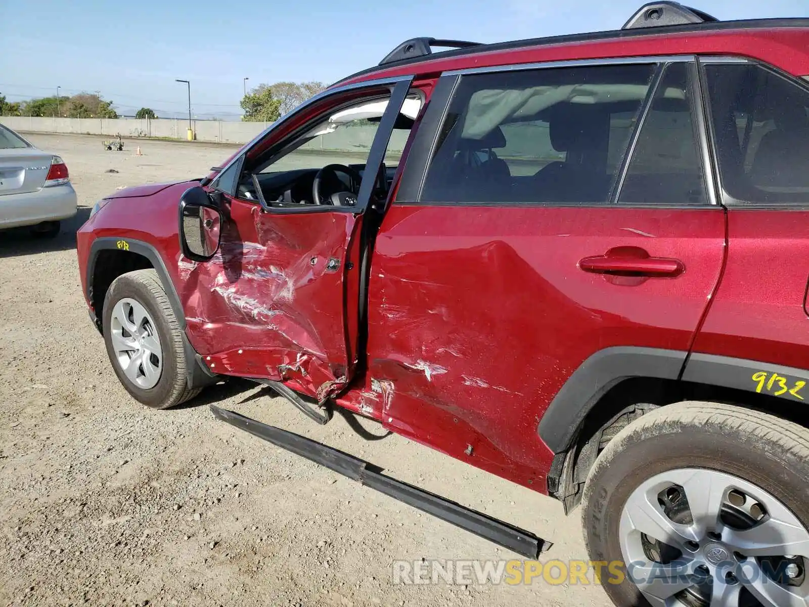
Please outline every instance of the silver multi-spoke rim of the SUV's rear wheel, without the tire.
[{"label": "silver multi-spoke rim of the SUV's rear wheel, without the tire", "polygon": [[643,482],[621,512],[629,579],[653,607],[807,607],[809,532],[769,492],[709,469]]}]

